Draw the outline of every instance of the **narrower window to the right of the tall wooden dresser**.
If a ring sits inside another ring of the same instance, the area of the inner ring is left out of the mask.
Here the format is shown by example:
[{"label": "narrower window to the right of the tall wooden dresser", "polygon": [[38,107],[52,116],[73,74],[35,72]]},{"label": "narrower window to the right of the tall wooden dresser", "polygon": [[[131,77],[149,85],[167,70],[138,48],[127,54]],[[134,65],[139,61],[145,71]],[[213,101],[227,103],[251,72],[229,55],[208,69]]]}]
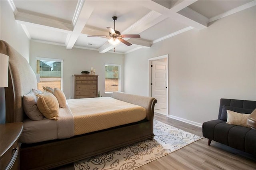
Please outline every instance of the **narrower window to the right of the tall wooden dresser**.
[{"label": "narrower window to the right of the tall wooden dresser", "polygon": [[105,93],[120,91],[121,65],[105,64]]}]

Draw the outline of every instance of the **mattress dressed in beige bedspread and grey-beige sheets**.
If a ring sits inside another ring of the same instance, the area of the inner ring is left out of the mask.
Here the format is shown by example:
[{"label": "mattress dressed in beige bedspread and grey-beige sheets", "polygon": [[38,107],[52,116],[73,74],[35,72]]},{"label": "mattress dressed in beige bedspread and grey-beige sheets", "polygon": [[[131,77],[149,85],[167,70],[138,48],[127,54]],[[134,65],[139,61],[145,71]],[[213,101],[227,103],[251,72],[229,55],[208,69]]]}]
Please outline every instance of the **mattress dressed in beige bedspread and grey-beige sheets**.
[{"label": "mattress dressed in beige bedspread and grey-beige sheets", "polygon": [[69,138],[111,127],[141,121],[146,109],[112,97],[67,100],[60,108],[58,121],[43,119],[23,121],[22,143],[36,143],[58,138]]}]

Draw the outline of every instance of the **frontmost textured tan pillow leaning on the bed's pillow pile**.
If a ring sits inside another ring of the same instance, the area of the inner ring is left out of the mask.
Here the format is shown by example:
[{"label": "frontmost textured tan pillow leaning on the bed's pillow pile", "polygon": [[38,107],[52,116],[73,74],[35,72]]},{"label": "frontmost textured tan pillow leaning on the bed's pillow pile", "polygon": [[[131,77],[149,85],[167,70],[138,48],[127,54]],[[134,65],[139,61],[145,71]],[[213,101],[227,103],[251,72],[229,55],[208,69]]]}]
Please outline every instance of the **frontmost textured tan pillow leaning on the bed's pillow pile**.
[{"label": "frontmost textured tan pillow leaning on the bed's pillow pile", "polygon": [[56,97],[49,92],[43,94],[37,94],[38,100],[36,105],[39,111],[46,117],[47,119],[58,120],[59,117],[59,103]]}]

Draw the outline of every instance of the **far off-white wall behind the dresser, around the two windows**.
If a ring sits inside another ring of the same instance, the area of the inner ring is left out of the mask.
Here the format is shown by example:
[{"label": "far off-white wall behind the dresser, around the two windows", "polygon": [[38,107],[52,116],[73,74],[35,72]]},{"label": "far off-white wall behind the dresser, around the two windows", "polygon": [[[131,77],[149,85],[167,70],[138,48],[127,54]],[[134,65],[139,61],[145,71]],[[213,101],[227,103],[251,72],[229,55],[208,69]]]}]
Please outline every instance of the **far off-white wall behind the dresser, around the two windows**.
[{"label": "far off-white wall behind the dresser, around the two windows", "polygon": [[116,53],[100,54],[98,51],[87,49],[66,49],[58,45],[30,42],[30,65],[36,73],[36,57],[63,59],[63,92],[66,98],[73,97],[74,74],[81,74],[81,71],[90,71],[91,67],[96,69],[98,77],[98,90],[105,95],[105,63],[121,65],[121,91],[124,89],[124,55]]}]

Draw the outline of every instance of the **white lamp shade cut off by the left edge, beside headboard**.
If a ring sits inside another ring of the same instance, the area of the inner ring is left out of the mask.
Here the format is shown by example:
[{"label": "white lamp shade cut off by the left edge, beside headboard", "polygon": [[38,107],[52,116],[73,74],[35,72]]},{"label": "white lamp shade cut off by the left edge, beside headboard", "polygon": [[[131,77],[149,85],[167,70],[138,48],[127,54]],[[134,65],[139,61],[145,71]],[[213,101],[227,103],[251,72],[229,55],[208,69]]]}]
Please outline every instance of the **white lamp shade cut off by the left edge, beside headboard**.
[{"label": "white lamp shade cut off by the left edge, beside headboard", "polygon": [[0,87],[8,87],[9,56],[0,53]]}]

